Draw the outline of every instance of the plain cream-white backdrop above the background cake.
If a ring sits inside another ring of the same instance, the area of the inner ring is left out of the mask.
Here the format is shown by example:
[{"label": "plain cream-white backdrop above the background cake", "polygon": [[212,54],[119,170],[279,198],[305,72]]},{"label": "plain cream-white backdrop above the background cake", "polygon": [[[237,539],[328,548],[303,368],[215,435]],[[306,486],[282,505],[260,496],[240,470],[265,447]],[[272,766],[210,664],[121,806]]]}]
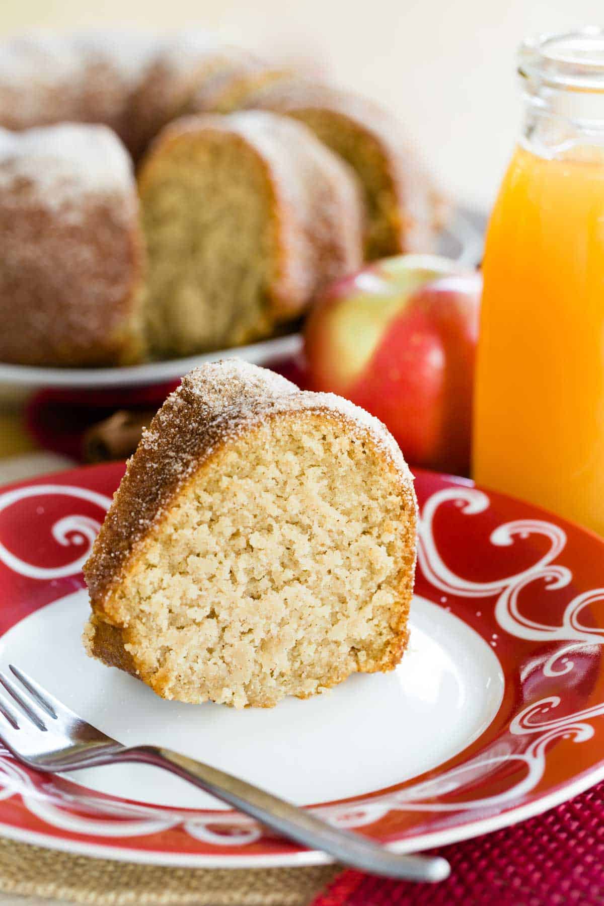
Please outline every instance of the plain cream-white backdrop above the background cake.
[{"label": "plain cream-white backdrop above the background cake", "polygon": [[603,20],[594,0],[0,0],[0,34],[197,25],[302,61],[398,111],[441,186],[480,207],[513,148],[517,43]]}]

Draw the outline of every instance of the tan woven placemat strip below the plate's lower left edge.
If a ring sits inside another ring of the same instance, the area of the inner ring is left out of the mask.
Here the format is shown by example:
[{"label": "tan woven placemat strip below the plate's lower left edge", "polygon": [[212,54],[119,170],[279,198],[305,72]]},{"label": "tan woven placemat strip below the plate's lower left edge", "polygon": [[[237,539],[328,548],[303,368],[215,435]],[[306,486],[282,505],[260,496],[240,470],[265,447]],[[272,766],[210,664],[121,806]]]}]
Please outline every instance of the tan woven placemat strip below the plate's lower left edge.
[{"label": "tan woven placemat strip below the plate's lower left edge", "polygon": [[0,838],[0,891],[94,906],[307,906],[339,871],[164,868]]}]

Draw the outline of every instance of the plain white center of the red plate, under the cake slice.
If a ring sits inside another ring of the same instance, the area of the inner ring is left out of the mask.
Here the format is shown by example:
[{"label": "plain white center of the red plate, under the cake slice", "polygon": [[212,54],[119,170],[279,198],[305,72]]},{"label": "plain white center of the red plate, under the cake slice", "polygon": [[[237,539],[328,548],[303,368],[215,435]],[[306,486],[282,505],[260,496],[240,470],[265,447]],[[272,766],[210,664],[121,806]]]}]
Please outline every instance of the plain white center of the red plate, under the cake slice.
[{"label": "plain white center of the red plate, under the cake slice", "polygon": [[[243,711],[164,701],[138,679],[91,660],[81,645],[88,612],[81,591],[30,614],[0,639],[0,666],[21,667],[124,745],[176,749],[299,805],[363,795],[442,764],[488,727],[503,698],[503,672],[488,644],[417,596],[397,670]],[[69,776],[139,802],[222,807],[156,767],[111,765]]]}]

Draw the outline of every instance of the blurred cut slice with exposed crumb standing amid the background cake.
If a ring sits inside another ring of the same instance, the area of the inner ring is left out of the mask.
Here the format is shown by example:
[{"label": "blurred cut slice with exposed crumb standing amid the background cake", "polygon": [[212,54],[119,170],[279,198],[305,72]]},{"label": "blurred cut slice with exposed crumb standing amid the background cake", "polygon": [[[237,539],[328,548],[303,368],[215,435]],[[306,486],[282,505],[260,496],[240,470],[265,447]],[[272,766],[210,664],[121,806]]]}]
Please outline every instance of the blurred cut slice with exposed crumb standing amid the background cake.
[{"label": "blurred cut slice with exposed crumb standing amid the background cake", "polygon": [[349,169],[272,113],[177,120],[145,159],[139,195],[158,356],[266,337],[362,260]]}]

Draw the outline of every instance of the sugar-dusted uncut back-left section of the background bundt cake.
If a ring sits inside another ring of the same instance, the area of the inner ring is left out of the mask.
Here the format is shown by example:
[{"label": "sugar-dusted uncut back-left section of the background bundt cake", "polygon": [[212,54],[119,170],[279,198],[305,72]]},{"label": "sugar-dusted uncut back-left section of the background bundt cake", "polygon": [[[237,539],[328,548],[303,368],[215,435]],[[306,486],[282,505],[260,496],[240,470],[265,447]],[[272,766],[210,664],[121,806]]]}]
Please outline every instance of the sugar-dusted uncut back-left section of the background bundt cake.
[{"label": "sugar-dusted uncut back-left section of the background bundt cake", "polygon": [[0,125],[103,123],[139,156],[150,129],[185,112],[206,61],[228,53],[239,52],[203,31],[16,35],[0,42]]}]

